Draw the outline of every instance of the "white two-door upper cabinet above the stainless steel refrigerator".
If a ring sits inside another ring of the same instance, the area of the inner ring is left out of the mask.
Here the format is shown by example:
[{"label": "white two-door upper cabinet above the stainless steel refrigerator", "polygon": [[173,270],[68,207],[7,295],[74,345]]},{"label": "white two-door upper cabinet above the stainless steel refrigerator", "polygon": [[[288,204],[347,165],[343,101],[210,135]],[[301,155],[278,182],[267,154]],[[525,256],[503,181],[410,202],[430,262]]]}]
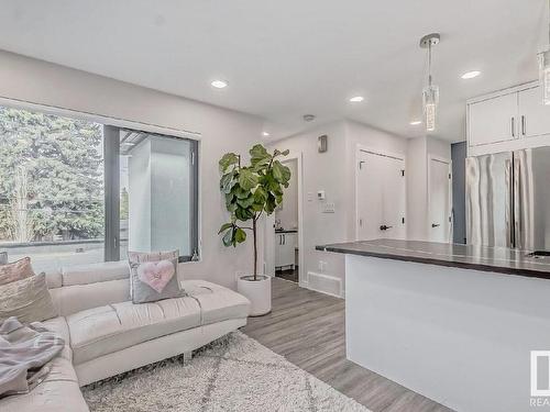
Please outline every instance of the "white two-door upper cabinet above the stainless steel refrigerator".
[{"label": "white two-door upper cabinet above the stainless steel refrigerator", "polygon": [[470,100],[466,118],[469,156],[550,146],[550,107],[536,81]]}]

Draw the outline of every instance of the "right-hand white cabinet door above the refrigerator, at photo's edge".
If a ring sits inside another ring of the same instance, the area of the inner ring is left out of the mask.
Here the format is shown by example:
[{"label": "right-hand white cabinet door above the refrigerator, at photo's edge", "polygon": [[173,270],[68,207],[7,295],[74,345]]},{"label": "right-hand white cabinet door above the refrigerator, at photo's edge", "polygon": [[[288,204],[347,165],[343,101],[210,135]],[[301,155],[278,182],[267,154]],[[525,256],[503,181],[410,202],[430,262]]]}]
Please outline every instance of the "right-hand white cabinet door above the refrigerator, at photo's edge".
[{"label": "right-hand white cabinet door above the refrigerator, at photo's edge", "polygon": [[550,136],[550,105],[542,104],[540,87],[519,92],[521,137]]}]

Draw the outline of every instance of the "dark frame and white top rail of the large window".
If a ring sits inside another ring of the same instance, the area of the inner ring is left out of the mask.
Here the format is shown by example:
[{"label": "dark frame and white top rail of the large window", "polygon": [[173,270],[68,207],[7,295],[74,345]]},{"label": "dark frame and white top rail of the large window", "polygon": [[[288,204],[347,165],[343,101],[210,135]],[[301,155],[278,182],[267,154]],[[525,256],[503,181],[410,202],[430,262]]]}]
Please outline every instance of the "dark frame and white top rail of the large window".
[{"label": "dark frame and white top rail of the large window", "polygon": [[[103,176],[105,176],[105,256],[103,261],[123,260],[120,256],[120,145],[119,138],[106,138],[106,130],[108,133],[113,133],[120,130],[132,130],[154,135],[161,135],[168,138],[182,138],[190,143],[191,146],[191,167],[190,167],[190,256],[180,255],[178,261],[190,261],[193,254],[196,253],[201,259],[201,234],[200,234],[200,168],[199,168],[199,152],[201,134],[188,130],[176,127],[161,126],[154,123],[129,121],[121,118],[113,118],[94,112],[62,108],[57,105],[48,105],[34,103],[25,100],[16,100],[6,97],[0,97],[0,105],[12,109],[21,109],[28,111],[36,111],[45,114],[52,114],[75,120],[84,120],[103,125]],[[109,143],[108,143],[109,141]],[[107,149],[109,147],[109,151]],[[109,166],[108,166],[109,162]],[[116,205],[114,205],[116,204]],[[108,249],[109,247],[109,249]]]}]

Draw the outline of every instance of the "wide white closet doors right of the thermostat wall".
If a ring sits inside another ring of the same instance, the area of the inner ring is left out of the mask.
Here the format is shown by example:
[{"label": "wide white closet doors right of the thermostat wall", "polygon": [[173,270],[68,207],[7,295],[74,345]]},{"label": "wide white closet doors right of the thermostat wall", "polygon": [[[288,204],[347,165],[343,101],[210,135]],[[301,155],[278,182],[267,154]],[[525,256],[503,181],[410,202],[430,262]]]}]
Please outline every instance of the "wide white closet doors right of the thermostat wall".
[{"label": "wide white closet doors right of the thermostat wall", "polygon": [[360,151],[358,238],[405,238],[405,160]]}]

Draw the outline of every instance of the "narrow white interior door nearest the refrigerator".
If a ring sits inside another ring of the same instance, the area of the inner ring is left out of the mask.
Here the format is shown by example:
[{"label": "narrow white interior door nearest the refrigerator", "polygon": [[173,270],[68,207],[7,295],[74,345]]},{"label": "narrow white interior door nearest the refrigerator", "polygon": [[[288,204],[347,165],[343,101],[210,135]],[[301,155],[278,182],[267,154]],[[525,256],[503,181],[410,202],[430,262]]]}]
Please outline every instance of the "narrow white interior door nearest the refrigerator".
[{"label": "narrow white interior door nearest the refrigerator", "polygon": [[451,234],[450,162],[429,159],[429,237],[431,242],[448,243]]}]

